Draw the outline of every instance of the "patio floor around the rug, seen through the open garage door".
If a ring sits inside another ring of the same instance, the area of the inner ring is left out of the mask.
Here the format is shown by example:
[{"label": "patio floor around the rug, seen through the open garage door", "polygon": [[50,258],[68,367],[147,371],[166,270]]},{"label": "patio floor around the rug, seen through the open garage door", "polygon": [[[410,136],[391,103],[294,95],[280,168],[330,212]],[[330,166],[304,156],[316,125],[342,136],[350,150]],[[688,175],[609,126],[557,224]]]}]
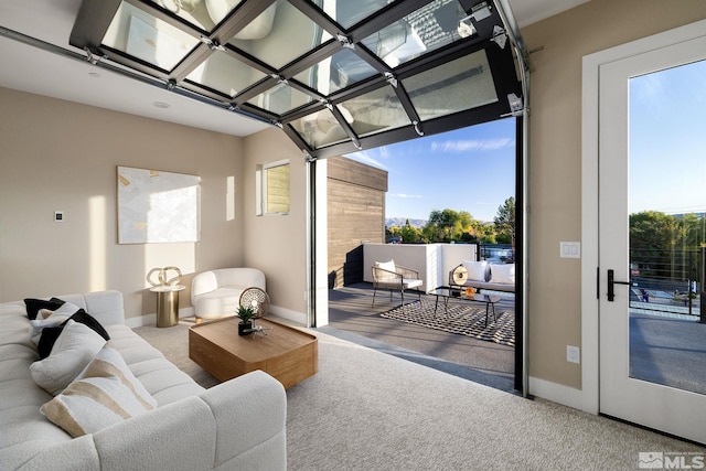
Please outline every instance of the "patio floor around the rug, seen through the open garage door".
[{"label": "patio floor around the rug, seen through the open garage door", "polygon": [[[496,313],[514,318],[514,299],[504,293]],[[417,293],[406,292],[405,302],[416,303]],[[422,302],[436,301],[421,295]],[[451,301],[451,304],[458,301]],[[472,336],[430,329],[381,314],[399,306],[399,293],[379,291],[373,303],[368,282],[329,290],[329,325],[322,331],[436,370],[498,389],[514,392],[514,347]],[[450,306],[451,306],[450,304]],[[411,306],[411,304],[409,304]],[[483,304],[477,307],[484,310]]]}]

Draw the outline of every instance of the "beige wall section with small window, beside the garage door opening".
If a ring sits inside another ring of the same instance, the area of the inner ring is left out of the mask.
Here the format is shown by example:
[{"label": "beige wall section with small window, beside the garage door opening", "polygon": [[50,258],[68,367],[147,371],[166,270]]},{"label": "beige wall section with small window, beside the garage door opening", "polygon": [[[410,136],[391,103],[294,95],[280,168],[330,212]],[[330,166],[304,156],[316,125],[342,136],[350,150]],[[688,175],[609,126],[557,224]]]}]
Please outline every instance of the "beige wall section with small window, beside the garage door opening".
[{"label": "beige wall section with small window, beside the garage door opening", "polygon": [[[275,313],[306,322],[307,289],[307,165],[304,156],[280,129],[245,138],[243,167],[244,263],[267,275],[267,291]],[[286,215],[255,215],[255,169],[289,160],[290,210]]]}]

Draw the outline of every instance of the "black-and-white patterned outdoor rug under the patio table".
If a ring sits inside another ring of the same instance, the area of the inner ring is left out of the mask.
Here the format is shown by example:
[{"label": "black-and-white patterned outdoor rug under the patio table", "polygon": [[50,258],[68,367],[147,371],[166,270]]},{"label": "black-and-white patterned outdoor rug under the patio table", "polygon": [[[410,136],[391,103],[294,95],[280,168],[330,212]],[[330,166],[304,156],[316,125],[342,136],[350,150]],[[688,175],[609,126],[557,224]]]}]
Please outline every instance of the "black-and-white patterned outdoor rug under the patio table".
[{"label": "black-and-white patterned outdoor rug under the patio table", "polygon": [[410,324],[437,329],[445,332],[472,336],[501,345],[515,346],[515,319],[510,312],[501,312],[495,307],[498,321],[493,322],[493,311],[488,315],[485,327],[485,307],[481,303],[449,302],[445,310],[439,300],[439,309],[434,314],[434,300],[422,299],[381,313],[383,318],[395,319]]}]

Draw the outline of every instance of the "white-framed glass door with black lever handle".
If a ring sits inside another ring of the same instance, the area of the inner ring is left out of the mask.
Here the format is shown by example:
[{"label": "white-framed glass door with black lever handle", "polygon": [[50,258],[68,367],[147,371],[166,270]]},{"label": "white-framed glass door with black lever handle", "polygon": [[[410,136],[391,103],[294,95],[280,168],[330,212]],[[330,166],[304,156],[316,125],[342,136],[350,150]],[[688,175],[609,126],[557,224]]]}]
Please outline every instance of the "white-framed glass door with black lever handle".
[{"label": "white-framed glass door with black lever handle", "polygon": [[706,39],[602,65],[600,410],[706,442]]}]

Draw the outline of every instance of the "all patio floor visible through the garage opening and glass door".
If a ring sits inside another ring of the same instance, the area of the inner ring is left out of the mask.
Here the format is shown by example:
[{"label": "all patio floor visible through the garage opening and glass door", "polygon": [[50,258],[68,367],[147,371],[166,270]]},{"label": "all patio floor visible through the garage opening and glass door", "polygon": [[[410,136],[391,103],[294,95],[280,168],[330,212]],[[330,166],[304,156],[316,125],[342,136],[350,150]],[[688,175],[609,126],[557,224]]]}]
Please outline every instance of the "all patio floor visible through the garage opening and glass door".
[{"label": "all patio floor visible through the garage opening and glass door", "polygon": [[[421,295],[422,303],[435,300],[432,295]],[[381,315],[399,306],[399,293],[394,293],[391,301],[389,291],[383,290],[375,298],[375,307],[372,302],[373,286],[368,282],[329,290],[329,325],[320,329],[384,353],[516,393],[513,346]],[[419,301],[415,292],[406,292],[405,302],[413,310]],[[453,303],[458,301],[451,300]],[[657,308],[639,301],[631,304],[630,375],[706,394],[703,342],[706,324],[699,324],[697,317],[684,315],[683,307]],[[495,309],[499,315],[514,317],[514,299],[503,298]]]}]

